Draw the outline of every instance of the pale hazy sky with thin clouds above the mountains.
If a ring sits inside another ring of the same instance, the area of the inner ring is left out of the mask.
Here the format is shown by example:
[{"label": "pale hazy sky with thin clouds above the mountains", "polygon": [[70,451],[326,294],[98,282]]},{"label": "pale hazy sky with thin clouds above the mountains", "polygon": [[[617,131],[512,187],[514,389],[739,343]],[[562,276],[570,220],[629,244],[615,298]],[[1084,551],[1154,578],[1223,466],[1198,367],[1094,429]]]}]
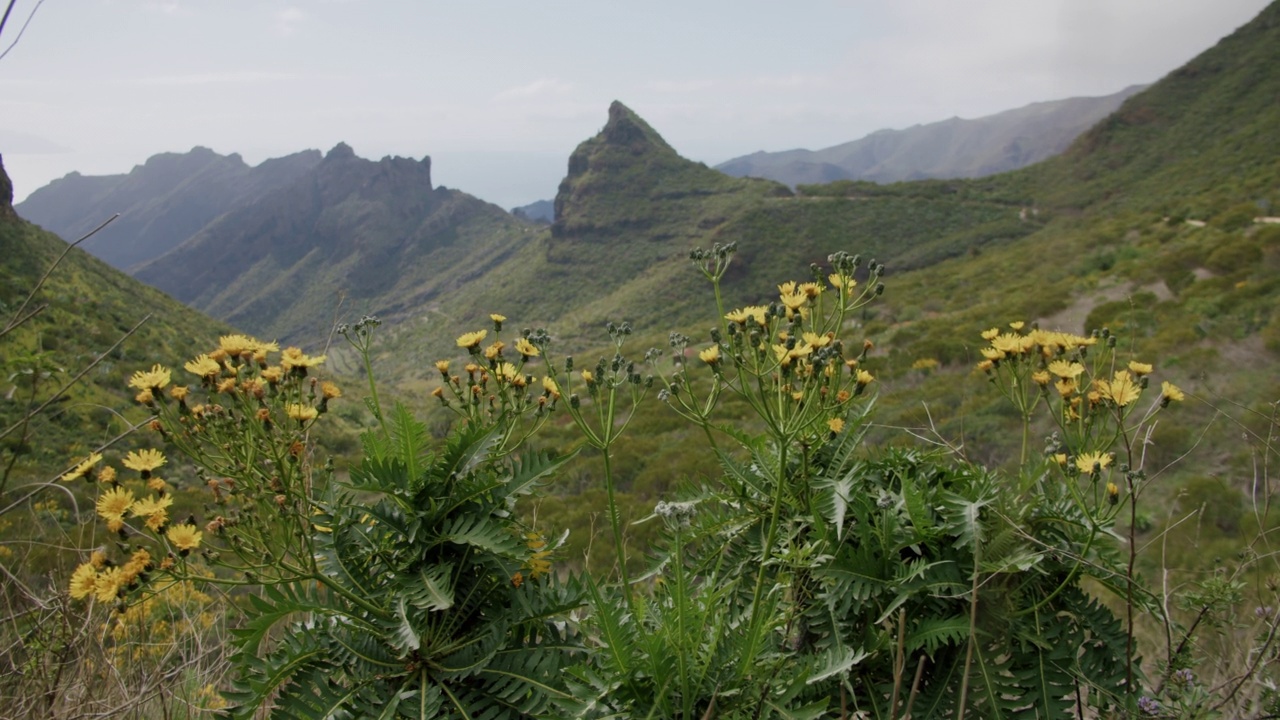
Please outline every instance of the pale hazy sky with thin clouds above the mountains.
[{"label": "pale hazy sky with thin clouds above the mountains", "polygon": [[554,195],[612,100],[716,164],[1153,82],[1265,5],[45,0],[0,59],[0,154],[20,200],[195,145],[257,164],[346,141],[509,208]]}]

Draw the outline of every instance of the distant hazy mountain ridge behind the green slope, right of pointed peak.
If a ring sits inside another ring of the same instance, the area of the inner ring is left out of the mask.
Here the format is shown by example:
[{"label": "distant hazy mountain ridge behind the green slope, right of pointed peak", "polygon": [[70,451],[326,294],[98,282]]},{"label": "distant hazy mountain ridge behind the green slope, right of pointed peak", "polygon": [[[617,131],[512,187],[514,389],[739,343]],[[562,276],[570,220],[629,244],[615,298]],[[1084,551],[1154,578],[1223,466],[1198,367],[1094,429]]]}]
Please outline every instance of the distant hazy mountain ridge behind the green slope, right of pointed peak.
[{"label": "distant hazy mountain ridge behind the green slope, right of pointed peak", "polygon": [[991,176],[1061,152],[1142,88],[1126,87],[1103,97],[1034,102],[972,120],[951,118],[906,129],[882,129],[824,150],[760,151],[727,160],[716,169],[792,187],[838,179],[886,183]]}]

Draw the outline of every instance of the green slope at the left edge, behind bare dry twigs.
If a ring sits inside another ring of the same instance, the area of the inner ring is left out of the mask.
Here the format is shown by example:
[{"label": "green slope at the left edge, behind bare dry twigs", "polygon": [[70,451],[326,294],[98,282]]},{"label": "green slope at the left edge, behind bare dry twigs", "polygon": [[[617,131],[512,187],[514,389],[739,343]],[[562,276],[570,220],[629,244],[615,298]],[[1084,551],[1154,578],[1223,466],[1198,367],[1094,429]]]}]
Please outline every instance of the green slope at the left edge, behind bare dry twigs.
[{"label": "green slope at the left edge, behind bare dry twigs", "polygon": [[[59,237],[22,220],[12,201],[0,164],[0,328],[18,318],[23,300],[67,250]],[[0,430],[13,428],[28,409],[100,361],[29,427],[0,439],[0,466],[14,462],[10,487],[49,479],[128,421],[145,418],[128,388],[132,373],[156,361],[173,365],[193,357],[230,332],[79,249],[67,254],[22,316],[32,311],[37,313],[29,322],[0,336]],[[140,434],[124,445],[143,439]]]}]

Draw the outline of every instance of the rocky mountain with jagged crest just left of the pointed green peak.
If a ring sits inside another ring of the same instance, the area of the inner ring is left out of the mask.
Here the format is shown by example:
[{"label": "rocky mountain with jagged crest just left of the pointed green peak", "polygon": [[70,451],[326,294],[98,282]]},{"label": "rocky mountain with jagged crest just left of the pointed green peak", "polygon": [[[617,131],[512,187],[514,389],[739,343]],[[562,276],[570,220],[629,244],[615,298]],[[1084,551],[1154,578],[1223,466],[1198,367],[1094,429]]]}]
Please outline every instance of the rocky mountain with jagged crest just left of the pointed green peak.
[{"label": "rocky mountain with jagged crest just left of the pointed green peak", "polygon": [[319,341],[339,309],[421,311],[509,254],[532,227],[433,187],[430,158],[371,161],[339,143],[134,277],[248,332]]}]

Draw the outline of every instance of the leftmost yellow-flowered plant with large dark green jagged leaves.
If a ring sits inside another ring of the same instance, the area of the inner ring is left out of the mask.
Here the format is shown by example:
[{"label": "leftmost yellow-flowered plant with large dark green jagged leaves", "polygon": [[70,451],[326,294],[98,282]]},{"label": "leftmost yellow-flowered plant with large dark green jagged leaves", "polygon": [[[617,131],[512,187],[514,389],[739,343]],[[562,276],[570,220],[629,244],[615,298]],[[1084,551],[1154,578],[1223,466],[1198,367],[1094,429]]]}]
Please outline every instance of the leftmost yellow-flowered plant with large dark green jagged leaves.
[{"label": "leftmost yellow-flowered plant with large dark green jagged leaves", "polygon": [[[342,328],[366,360],[374,327]],[[312,464],[308,432],[343,396],[314,374],[324,356],[227,336],[184,365],[195,387],[160,366],[137,373],[154,429],[207,486],[206,518],[169,518],[160,451],[124,459],[136,480],[95,478],[92,456],[77,464],[68,479],[102,484],[97,511],[125,555],[95,553],[73,597],[128,615],[173,580],[248,591],[221,689],[233,716],[539,712],[572,647],[550,620],[579,600],[513,510],[567,456],[512,452],[525,415],[549,409],[492,361],[497,398],[471,404],[442,447],[402,405],[384,411],[370,379],[376,427],[349,480]]]}]

